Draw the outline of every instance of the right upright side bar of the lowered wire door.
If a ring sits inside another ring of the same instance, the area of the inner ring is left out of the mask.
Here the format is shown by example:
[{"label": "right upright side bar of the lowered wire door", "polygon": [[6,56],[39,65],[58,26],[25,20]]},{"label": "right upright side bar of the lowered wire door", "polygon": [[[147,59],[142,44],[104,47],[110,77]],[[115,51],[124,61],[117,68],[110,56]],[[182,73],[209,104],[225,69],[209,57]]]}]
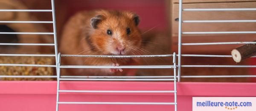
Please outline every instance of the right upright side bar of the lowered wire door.
[{"label": "right upright side bar of the lowered wire door", "polygon": [[174,102],[175,104],[175,111],[177,111],[177,82],[176,82],[176,53],[173,53],[173,66],[174,66]]}]

